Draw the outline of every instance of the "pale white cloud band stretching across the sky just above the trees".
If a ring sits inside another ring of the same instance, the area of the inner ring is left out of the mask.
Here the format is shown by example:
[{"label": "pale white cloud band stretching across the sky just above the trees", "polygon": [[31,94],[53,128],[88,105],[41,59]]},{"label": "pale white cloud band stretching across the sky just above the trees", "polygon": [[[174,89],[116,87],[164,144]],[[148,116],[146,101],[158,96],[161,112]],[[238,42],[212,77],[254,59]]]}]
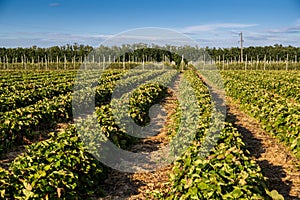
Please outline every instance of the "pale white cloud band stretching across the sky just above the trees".
[{"label": "pale white cloud band stretching across the sky just above the trees", "polygon": [[[257,27],[257,24],[246,23],[217,23],[206,24],[199,26],[189,26],[181,29],[181,33],[196,40],[199,46],[210,47],[233,47],[239,46],[239,33],[242,31],[244,36],[245,46],[264,46],[264,45],[292,45],[300,46],[300,19],[295,21],[291,26],[285,27],[271,27],[264,28],[262,26]],[[177,29],[178,31],[180,29]],[[174,44],[185,44],[186,41],[183,38],[177,38],[176,34],[159,35],[157,32],[134,32],[135,34],[121,33],[117,35],[113,34],[101,34],[101,33],[87,33],[87,34],[71,34],[62,32],[2,32],[0,33],[0,44],[6,47],[16,46],[53,46],[53,45],[65,45],[65,44],[88,44],[92,46],[98,46],[103,41],[113,38],[112,45],[115,43],[123,42],[139,42],[145,43],[157,43],[161,38],[162,42],[171,41]],[[162,31],[162,33],[164,33]]]}]

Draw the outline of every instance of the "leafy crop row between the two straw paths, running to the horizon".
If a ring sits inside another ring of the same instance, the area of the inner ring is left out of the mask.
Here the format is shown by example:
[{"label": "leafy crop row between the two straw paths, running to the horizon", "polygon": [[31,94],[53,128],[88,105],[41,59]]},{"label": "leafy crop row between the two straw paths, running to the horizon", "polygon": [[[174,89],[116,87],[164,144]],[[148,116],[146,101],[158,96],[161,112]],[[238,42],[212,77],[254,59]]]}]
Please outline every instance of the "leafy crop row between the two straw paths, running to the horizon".
[{"label": "leafy crop row between the two straw paths, running to the horizon", "polygon": [[195,72],[185,72],[185,78],[193,87],[199,104],[197,133],[191,146],[175,161],[167,190],[154,192],[154,197],[283,199],[277,191],[268,190],[260,167],[251,159],[241,134],[231,124],[225,123],[220,135],[208,133],[212,114],[209,91]]}]

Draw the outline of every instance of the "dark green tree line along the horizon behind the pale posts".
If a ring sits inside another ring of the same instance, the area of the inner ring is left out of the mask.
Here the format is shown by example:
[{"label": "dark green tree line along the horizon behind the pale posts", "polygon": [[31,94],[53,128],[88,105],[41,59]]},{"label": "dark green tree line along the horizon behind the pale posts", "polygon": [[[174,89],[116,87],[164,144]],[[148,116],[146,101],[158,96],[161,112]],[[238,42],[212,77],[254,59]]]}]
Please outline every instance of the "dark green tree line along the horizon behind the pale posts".
[{"label": "dark green tree line along the horizon behind the pale posts", "polygon": [[[137,51],[137,49],[140,49]],[[93,51],[95,50],[95,51]],[[200,50],[200,51],[199,51]],[[170,53],[172,52],[172,54]],[[195,53],[200,52],[200,53]],[[202,53],[201,53],[202,52]],[[209,56],[205,57],[203,52]],[[176,53],[176,54],[173,54]],[[194,46],[171,46],[166,45],[159,47],[148,44],[126,44],[122,46],[100,46],[96,49],[89,45],[83,44],[67,44],[63,46],[52,46],[41,48],[32,46],[29,48],[0,48],[1,63],[21,63],[21,62],[83,62],[84,60],[93,60],[101,62],[108,60],[123,61],[139,61],[153,60],[162,61],[165,57],[169,60],[175,60],[176,63],[181,60],[181,55],[186,55],[185,59],[193,60],[201,57],[204,60],[214,61],[239,61],[241,51],[239,47],[231,48],[199,48]],[[204,55],[204,58],[203,58]],[[268,60],[268,61],[297,61],[300,60],[300,47],[282,46],[275,44],[273,46],[264,47],[246,47],[243,49],[243,60]],[[186,61],[186,60],[185,60]]]}]

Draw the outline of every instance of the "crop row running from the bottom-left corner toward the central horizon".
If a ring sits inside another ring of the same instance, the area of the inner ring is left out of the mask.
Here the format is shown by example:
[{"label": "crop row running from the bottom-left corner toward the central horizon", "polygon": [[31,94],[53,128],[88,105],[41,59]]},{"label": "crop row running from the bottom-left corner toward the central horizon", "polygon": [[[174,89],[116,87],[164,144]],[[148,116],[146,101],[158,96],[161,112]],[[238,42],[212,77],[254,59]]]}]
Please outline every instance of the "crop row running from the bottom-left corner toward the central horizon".
[{"label": "crop row running from the bottom-left corner toward the central horizon", "polygon": [[[171,81],[168,77],[170,73],[162,75],[160,79]],[[163,93],[165,89],[158,83],[144,84],[133,91],[130,105],[137,108],[150,107],[163,97]],[[149,97],[151,101],[148,100]],[[136,115],[132,115],[133,110]],[[128,112],[133,119],[140,116],[139,109],[133,110]],[[132,138],[114,122],[109,105],[97,108],[96,114],[103,130],[102,134],[115,145],[128,147]],[[91,156],[87,150],[89,144],[84,144],[80,139],[87,135],[94,140],[101,138],[99,132],[87,129],[88,123],[90,122],[85,121],[81,125],[79,123],[76,128],[69,125],[62,132],[50,133],[49,139],[27,146],[26,152],[18,156],[8,169],[0,168],[1,198],[86,199],[103,195],[100,186],[106,177],[106,167]],[[79,137],[76,131],[79,129],[84,130],[80,133],[85,135]],[[127,143],[122,143],[124,140]]]}]

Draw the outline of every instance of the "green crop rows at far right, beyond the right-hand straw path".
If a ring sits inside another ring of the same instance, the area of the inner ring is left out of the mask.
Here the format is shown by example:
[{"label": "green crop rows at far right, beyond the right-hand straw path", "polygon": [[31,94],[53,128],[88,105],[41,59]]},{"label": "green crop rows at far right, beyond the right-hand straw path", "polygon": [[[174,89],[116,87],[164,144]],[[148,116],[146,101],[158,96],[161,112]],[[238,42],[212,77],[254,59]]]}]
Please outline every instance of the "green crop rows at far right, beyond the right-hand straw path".
[{"label": "green crop rows at far right, beyond the right-hand straw path", "polygon": [[300,157],[300,79],[297,71],[224,71],[228,96]]}]

